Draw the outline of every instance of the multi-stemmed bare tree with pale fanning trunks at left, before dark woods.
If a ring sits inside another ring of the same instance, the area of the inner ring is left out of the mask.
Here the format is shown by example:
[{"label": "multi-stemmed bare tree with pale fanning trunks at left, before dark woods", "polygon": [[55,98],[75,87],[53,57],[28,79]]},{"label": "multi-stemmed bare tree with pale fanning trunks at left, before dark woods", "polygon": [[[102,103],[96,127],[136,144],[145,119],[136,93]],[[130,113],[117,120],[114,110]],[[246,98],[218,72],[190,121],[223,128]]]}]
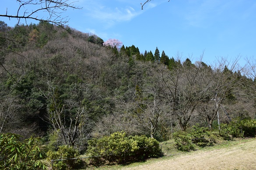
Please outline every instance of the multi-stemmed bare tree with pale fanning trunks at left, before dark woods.
[{"label": "multi-stemmed bare tree with pale fanning trunks at left, before dark woods", "polygon": [[[55,88],[50,82],[47,82],[49,91],[48,94],[44,93],[44,97],[49,99],[49,114],[47,120],[49,124],[53,127],[56,133],[63,139],[65,145],[74,146],[79,138],[86,136],[87,126],[84,126],[81,119],[85,119],[85,108],[82,102],[74,104],[65,104],[59,99],[58,89]],[[67,107],[70,109],[75,109],[75,114],[72,112],[67,112]]]}]

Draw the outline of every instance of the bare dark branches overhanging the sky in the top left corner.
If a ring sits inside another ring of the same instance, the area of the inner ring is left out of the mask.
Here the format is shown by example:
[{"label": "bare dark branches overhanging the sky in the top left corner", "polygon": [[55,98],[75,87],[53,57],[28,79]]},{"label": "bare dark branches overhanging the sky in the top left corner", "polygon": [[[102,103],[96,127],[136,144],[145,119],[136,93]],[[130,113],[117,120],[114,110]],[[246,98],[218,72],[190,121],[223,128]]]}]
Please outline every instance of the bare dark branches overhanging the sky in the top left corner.
[{"label": "bare dark branches overhanging the sky in the top left corner", "polygon": [[25,20],[27,24],[28,19],[47,21],[52,24],[65,26],[68,23],[67,16],[62,14],[69,8],[81,9],[74,5],[76,1],[73,0],[17,0],[18,8],[16,14],[9,14],[9,10],[2,11],[0,17],[7,17],[9,19],[18,19],[19,24],[21,20]]}]

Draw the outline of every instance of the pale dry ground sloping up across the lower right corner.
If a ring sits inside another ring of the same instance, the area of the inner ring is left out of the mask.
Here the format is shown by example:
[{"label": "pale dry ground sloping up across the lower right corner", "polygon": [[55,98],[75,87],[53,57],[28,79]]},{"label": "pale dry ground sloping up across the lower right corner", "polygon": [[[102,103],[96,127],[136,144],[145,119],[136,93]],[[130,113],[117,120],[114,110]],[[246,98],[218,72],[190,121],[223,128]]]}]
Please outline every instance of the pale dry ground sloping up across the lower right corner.
[{"label": "pale dry ground sloping up across the lower right corner", "polygon": [[198,150],[125,170],[256,170],[256,140],[216,150]]}]

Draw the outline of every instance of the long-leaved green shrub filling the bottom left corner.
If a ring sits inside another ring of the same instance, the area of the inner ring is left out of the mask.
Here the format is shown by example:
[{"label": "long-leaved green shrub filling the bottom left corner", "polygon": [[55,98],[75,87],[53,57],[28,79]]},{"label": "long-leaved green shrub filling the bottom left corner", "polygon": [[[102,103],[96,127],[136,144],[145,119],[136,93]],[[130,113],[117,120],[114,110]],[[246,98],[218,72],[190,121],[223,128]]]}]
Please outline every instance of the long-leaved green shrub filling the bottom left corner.
[{"label": "long-leaved green shrub filling the bottom left corner", "polygon": [[44,153],[38,146],[39,138],[31,137],[21,142],[19,137],[12,133],[0,134],[0,169],[46,169],[46,165],[40,160]]}]

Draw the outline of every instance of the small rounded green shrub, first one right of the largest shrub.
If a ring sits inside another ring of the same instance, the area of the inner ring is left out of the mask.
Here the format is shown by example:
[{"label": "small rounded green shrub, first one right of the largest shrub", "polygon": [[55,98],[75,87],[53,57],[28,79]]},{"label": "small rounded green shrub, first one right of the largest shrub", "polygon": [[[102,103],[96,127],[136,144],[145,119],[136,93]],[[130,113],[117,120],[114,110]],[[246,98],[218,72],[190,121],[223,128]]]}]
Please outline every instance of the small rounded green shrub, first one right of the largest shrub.
[{"label": "small rounded green shrub, first one right of the largest shrub", "polygon": [[174,134],[175,147],[181,151],[190,151],[195,149],[192,142],[192,136],[189,133],[180,132]]}]

